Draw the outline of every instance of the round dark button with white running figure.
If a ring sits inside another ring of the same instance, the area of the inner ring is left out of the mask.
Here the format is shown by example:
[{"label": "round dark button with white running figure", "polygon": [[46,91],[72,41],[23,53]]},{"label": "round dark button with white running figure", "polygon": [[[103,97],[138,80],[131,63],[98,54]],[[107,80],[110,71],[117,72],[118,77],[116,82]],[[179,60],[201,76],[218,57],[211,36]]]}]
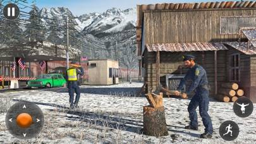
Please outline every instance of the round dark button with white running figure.
[{"label": "round dark button with white running figure", "polygon": [[219,127],[219,135],[223,140],[235,140],[239,135],[239,127],[234,121],[224,121]]}]

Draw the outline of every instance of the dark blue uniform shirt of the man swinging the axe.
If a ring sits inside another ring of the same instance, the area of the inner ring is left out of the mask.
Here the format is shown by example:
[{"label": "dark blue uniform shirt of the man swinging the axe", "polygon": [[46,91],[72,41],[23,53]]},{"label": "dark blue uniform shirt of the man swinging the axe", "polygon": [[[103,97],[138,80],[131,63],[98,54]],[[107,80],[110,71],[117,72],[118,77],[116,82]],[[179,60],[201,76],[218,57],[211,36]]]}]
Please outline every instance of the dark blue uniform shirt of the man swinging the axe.
[{"label": "dark blue uniform shirt of the man swinging the axe", "polygon": [[188,69],[185,77],[180,81],[180,85],[177,90],[182,90],[187,80],[192,80],[192,85],[190,85],[189,88],[186,88],[185,93],[191,93],[194,90],[197,91],[200,90],[200,88],[205,88],[205,86],[208,86],[206,71],[198,64],[195,64],[195,66]]}]

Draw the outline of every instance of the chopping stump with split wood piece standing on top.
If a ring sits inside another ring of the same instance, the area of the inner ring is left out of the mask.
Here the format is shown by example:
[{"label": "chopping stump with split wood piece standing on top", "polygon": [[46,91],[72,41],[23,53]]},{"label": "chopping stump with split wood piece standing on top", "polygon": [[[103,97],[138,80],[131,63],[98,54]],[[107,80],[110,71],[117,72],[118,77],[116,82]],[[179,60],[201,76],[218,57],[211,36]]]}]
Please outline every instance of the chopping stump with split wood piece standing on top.
[{"label": "chopping stump with split wood piece standing on top", "polygon": [[148,93],[146,97],[150,105],[143,107],[143,133],[157,137],[168,135],[162,93],[160,95]]}]

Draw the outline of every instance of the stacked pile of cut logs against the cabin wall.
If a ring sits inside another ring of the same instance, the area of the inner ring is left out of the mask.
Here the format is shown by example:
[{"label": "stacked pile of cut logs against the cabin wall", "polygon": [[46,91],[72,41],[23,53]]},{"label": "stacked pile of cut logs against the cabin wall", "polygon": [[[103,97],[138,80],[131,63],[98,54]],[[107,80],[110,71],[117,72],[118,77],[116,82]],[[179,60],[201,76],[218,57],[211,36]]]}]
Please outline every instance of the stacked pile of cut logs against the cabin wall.
[{"label": "stacked pile of cut logs against the cabin wall", "polygon": [[237,83],[222,83],[215,98],[221,102],[235,102],[238,97],[242,97],[245,94],[242,89],[238,88]]}]

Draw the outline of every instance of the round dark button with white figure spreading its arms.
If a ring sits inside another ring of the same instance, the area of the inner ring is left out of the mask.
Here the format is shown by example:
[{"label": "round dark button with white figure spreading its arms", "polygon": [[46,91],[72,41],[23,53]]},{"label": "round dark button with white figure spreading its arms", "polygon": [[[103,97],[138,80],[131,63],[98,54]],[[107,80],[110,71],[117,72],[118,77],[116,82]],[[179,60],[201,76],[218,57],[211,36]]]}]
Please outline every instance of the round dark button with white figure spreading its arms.
[{"label": "round dark button with white figure spreading its arms", "polygon": [[240,97],[234,102],[233,111],[236,116],[248,117],[253,112],[253,103],[247,97]]}]

